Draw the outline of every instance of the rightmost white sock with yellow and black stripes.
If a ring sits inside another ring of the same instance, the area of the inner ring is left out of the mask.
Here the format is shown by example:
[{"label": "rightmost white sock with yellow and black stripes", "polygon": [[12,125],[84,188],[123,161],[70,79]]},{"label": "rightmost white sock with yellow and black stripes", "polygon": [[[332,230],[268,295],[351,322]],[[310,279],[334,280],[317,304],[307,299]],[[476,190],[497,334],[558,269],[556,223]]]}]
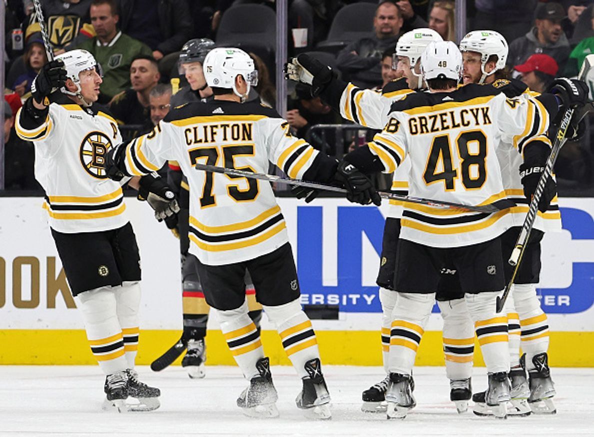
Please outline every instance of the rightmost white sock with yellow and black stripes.
[{"label": "rightmost white sock with yellow and black stripes", "polygon": [[535,368],[532,357],[549,349],[549,323],[536,297],[535,284],[515,284],[514,303],[522,325],[522,350],[526,353],[526,368]]}]

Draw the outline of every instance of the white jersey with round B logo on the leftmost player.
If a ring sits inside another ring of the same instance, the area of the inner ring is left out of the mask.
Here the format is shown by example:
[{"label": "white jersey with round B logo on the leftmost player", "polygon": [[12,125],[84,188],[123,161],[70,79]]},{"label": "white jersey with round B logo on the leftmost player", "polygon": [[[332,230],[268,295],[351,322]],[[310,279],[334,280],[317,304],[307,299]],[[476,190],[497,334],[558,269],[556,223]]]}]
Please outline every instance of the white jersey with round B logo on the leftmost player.
[{"label": "white jersey with round B logo on the leftmost player", "polygon": [[96,232],[128,223],[121,185],[103,168],[105,154],[122,142],[112,117],[95,106],[51,103],[42,124],[21,108],[15,129],[35,145],[35,178],[45,190],[52,229]]}]

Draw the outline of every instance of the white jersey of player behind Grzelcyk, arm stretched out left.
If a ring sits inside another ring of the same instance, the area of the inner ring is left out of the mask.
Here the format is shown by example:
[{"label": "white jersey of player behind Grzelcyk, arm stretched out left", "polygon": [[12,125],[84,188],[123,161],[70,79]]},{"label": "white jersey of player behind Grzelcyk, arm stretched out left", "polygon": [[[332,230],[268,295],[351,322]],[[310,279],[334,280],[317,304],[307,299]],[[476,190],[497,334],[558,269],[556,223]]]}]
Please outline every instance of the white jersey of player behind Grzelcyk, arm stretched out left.
[{"label": "white jersey of player behind Grzelcyk, arm stretched out left", "polygon": [[[364,90],[349,83],[340,96],[340,115],[352,122],[371,129],[383,129],[388,122],[390,106],[407,94],[414,93],[406,83],[405,78],[388,82],[381,93]],[[394,194],[407,196],[409,192],[410,160],[394,170],[390,191]],[[403,202],[390,200],[388,217],[402,218]]]}]

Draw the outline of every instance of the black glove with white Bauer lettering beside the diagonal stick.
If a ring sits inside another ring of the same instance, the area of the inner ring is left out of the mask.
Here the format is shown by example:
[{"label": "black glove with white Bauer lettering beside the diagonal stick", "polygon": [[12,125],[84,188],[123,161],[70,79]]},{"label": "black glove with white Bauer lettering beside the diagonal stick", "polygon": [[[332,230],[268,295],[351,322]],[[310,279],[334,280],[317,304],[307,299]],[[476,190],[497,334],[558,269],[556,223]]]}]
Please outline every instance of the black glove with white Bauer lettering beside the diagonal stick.
[{"label": "black glove with white Bauer lettering beside the diagonal stick", "polygon": [[[550,153],[551,150],[548,145],[543,143],[529,144],[524,151],[524,163],[520,166],[520,178],[524,186],[524,195],[529,201],[532,201],[532,196],[536,192],[536,186],[545,171],[546,159]],[[538,210],[544,213],[556,195],[557,183],[555,183],[552,176],[549,176],[538,201]]]}]

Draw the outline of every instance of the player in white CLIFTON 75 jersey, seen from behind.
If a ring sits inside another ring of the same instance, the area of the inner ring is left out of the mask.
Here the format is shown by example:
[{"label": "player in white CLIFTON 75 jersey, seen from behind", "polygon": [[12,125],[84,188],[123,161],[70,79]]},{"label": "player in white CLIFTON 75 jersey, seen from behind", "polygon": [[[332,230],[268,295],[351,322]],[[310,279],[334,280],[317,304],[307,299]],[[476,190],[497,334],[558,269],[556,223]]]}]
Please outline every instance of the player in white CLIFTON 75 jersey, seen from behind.
[{"label": "player in white CLIFTON 75 jersey, seen from behind", "polygon": [[195,163],[267,172],[270,162],[292,178],[330,182],[363,203],[380,198],[364,175],[347,163],[338,165],[259,103],[243,103],[257,83],[254,63],[235,48],[211,50],[204,61],[208,103],[173,109],[149,135],[118,146],[106,166],[113,178],[142,175],[166,160],[176,160],[188,177],[189,239],[208,305],[217,309],[220,327],[236,362],[249,381],[238,398],[244,413],[277,416],[277,392],[260,337],[245,305],[244,274],[249,270],[256,299],[276,325],[283,347],[302,378],[297,406],[314,417],[330,417],[330,395],[321,373],[311,321],[299,303],[299,281],[285,220],[270,183],[197,171]]}]

